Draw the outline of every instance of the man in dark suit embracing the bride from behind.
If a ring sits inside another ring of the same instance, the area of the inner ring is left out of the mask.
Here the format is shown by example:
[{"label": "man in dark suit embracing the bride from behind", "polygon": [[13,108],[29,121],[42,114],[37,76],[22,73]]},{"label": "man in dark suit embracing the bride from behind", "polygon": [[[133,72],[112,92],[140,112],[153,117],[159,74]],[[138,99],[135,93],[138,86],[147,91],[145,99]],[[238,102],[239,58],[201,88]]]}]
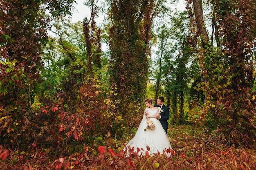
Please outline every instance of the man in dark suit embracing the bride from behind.
[{"label": "man in dark suit embracing the bride from behind", "polygon": [[161,122],[166,134],[168,129],[168,122],[167,120],[170,118],[169,108],[164,105],[164,97],[158,97],[157,104],[154,107],[159,107],[159,114],[160,116],[156,117]]}]

